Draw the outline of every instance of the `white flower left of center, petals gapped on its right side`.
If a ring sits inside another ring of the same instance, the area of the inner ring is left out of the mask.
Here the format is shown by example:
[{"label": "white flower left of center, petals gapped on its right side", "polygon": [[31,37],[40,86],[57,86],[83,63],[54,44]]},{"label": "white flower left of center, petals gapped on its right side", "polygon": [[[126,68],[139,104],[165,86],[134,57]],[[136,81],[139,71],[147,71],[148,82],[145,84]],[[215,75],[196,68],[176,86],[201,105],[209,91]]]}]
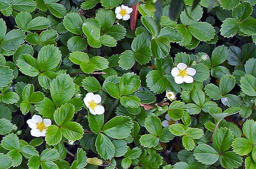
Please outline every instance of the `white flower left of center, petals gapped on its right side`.
[{"label": "white flower left of center, petals gapped on its right side", "polygon": [[102,97],[98,94],[94,95],[93,93],[87,93],[84,97],[84,104],[89,108],[93,115],[104,113],[104,107],[100,105],[101,101]]}]

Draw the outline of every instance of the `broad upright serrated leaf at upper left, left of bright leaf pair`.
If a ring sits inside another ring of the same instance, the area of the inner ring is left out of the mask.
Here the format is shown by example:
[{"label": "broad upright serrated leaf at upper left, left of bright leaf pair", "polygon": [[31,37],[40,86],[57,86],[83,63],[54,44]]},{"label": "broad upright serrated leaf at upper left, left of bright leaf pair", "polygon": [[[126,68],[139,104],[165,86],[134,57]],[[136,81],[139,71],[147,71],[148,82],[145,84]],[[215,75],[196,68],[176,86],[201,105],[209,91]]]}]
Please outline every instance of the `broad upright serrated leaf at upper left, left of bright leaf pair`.
[{"label": "broad upright serrated leaf at upper left, left of bright leaf pair", "polygon": [[61,52],[53,45],[42,47],[37,58],[38,66],[41,71],[49,71],[55,68],[61,60]]}]

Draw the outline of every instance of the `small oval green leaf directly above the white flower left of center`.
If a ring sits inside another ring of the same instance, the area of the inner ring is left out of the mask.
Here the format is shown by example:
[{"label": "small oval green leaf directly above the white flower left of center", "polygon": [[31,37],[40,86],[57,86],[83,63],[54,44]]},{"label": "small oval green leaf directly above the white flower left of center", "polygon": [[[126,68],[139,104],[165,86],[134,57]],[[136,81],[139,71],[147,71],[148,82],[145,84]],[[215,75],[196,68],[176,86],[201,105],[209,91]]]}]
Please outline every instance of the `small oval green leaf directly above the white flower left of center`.
[{"label": "small oval green leaf directly above the white flower left of center", "polygon": [[97,92],[101,89],[101,84],[93,76],[86,77],[83,80],[82,84],[84,89],[87,90],[88,92]]}]

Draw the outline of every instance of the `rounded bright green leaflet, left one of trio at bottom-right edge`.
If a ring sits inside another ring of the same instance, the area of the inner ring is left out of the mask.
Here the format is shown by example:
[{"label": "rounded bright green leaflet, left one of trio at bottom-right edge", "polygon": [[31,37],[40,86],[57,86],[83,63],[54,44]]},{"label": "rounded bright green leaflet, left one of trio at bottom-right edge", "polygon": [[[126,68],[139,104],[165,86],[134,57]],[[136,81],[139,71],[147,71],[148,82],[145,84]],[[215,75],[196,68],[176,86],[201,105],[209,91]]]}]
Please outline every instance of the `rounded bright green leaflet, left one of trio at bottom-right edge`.
[{"label": "rounded bright green leaflet, left one of trio at bottom-right edge", "polygon": [[233,151],[240,156],[245,156],[252,151],[252,142],[245,138],[236,138],[232,143]]}]

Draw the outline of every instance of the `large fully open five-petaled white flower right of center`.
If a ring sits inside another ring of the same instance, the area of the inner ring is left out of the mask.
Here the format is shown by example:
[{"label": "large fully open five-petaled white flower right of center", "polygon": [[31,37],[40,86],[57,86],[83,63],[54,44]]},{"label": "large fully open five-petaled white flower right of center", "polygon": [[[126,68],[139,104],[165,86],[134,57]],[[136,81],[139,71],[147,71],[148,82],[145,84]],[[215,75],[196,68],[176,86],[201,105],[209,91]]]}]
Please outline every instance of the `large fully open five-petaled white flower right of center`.
[{"label": "large fully open five-petaled white flower right of center", "polygon": [[177,67],[172,68],[172,76],[177,84],[193,83],[194,79],[192,76],[195,75],[196,71],[193,68],[188,68],[185,63],[178,63]]}]

